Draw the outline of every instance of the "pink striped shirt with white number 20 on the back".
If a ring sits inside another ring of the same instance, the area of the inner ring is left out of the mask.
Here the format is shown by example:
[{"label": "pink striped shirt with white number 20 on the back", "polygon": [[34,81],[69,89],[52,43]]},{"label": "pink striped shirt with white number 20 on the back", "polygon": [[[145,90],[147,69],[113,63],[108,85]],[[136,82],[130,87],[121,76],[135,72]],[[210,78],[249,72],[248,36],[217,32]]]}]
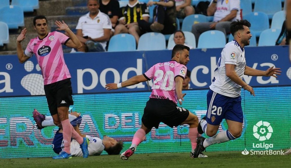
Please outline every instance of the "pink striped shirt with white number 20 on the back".
[{"label": "pink striped shirt with white number 20 on the back", "polygon": [[152,66],[143,74],[148,80],[153,79],[150,98],[171,100],[177,104],[175,78],[180,76],[184,79],[186,72],[187,67],[174,60]]}]

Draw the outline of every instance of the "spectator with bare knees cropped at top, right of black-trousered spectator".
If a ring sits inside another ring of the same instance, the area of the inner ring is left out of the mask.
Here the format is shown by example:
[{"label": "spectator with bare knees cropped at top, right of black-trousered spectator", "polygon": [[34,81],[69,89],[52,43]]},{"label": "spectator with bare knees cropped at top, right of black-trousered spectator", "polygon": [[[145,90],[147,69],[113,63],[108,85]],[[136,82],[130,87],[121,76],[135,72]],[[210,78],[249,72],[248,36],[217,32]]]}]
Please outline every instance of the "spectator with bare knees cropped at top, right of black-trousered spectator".
[{"label": "spectator with bare knees cropped at top, right of black-trousered spectator", "polygon": [[195,13],[194,7],[191,5],[192,0],[175,0],[178,18],[185,18]]}]

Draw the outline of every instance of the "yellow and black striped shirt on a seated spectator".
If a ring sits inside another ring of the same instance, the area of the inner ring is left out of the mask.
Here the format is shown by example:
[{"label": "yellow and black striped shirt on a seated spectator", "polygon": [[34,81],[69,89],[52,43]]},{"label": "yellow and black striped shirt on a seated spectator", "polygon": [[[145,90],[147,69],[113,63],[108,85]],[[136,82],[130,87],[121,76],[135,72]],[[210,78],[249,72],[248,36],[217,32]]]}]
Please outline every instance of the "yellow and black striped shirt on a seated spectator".
[{"label": "yellow and black striped shirt on a seated spectator", "polygon": [[120,8],[119,19],[125,17],[126,24],[143,20],[143,16],[150,16],[146,3],[137,1],[134,6],[127,4],[127,6]]}]

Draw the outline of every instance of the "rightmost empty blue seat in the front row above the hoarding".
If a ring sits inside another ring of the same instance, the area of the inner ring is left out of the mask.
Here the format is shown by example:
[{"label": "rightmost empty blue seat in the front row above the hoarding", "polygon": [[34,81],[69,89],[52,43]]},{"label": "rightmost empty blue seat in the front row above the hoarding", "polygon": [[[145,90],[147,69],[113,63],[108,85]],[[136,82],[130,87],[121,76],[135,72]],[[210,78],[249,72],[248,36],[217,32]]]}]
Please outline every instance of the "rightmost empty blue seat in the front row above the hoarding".
[{"label": "rightmost empty blue seat in the front row above the hoarding", "polygon": [[259,38],[258,46],[274,46],[281,33],[281,29],[264,30]]}]

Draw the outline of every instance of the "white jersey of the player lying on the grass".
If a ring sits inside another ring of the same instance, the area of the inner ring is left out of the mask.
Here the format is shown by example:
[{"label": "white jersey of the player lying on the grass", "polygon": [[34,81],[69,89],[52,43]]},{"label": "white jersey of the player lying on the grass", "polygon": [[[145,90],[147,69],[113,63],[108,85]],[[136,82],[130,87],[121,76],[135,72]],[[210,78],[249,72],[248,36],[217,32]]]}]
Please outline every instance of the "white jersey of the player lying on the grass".
[{"label": "white jersey of the player lying on the grass", "polygon": [[[89,135],[86,135],[86,138],[89,138],[89,141],[90,141],[90,144],[88,144],[89,156],[100,155],[105,148],[102,143],[102,139],[91,137]],[[71,149],[72,156],[83,156],[82,150],[80,148],[80,144],[74,139],[71,142],[70,149]]]}]

